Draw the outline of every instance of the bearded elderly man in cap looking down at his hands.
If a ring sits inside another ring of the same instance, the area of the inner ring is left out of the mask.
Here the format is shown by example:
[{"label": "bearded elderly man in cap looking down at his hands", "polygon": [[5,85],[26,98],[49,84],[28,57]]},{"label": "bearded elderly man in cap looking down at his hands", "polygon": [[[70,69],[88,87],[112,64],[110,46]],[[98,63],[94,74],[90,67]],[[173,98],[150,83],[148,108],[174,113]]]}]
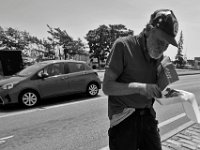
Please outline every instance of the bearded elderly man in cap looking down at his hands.
[{"label": "bearded elderly man in cap looking down at his hands", "polygon": [[115,41],[107,60],[103,92],[108,95],[110,150],[161,150],[154,98],[161,97],[157,67],[169,44],[177,47],[172,10],[156,10],[144,30]]}]

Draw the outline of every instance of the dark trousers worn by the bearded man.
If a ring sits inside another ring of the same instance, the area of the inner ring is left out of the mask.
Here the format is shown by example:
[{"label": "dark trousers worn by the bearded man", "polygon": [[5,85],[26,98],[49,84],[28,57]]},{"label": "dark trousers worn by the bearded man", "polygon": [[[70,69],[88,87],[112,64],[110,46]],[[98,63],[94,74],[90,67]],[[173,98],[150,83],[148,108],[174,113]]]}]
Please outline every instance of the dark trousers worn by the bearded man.
[{"label": "dark trousers worn by the bearded man", "polygon": [[108,130],[110,150],[161,150],[157,125],[149,109],[137,109]]}]

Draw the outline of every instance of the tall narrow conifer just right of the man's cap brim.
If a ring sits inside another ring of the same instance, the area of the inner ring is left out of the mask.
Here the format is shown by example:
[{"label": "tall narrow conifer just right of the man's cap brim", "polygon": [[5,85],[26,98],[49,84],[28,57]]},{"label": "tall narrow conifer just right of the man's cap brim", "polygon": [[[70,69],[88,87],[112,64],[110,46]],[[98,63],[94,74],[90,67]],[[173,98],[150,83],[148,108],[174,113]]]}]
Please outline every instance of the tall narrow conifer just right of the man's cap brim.
[{"label": "tall narrow conifer just right of the man's cap brim", "polygon": [[183,32],[180,33],[180,38],[178,41],[178,51],[175,57],[175,64],[177,65],[177,68],[183,68],[186,64],[186,60],[183,56]]}]

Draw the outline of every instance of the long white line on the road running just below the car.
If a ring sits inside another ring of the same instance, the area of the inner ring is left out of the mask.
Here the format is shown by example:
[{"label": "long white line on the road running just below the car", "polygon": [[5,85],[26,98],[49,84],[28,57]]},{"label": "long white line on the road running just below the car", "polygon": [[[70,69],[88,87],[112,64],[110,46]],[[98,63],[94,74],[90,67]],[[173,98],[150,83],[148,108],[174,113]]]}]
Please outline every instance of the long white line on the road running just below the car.
[{"label": "long white line on the road running just below the car", "polygon": [[12,113],[12,114],[2,115],[2,116],[0,116],[0,118],[17,116],[17,115],[21,115],[21,114],[27,114],[27,113],[31,113],[31,112],[35,112],[35,111],[43,111],[43,110],[47,110],[47,109],[63,107],[63,106],[68,106],[68,105],[74,105],[74,104],[78,104],[78,103],[88,102],[88,101],[91,101],[91,100],[92,101],[99,100],[99,99],[102,99],[102,98],[105,98],[105,97],[107,97],[107,96],[101,96],[101,97],[96,97],[96,98],[92,98],[92,99],[87,99],[87,100],[78,101],[78,102],[71,102],[71,103],[66,103],[66,104],[58,104],[58,105],[54,105],[54,106],[38,107],[38,108],[31,109],[31,110],[20,111],[20,112],[15,112],[15,113]]}]

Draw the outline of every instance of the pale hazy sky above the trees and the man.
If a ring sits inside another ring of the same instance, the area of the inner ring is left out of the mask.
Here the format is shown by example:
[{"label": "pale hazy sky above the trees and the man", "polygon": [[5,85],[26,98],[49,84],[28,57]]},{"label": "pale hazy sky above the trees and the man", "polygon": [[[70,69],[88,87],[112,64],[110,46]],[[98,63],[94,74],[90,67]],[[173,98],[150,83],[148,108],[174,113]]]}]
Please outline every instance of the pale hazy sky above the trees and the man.
[{"label": "pale hazy sky above the trees and the man", "polygon": [[[171,9],[179,22],[177,41],[183,32],[183,54],[200,57],[199,0],[0,0],[0,26],[27,31],[47,38],[47,24],[66,30],[83,42],[89,30],[100,25],[123,24],[139,34],[157,9]],[[165,55],[175,58],[177,48],[169,46]]]}]

